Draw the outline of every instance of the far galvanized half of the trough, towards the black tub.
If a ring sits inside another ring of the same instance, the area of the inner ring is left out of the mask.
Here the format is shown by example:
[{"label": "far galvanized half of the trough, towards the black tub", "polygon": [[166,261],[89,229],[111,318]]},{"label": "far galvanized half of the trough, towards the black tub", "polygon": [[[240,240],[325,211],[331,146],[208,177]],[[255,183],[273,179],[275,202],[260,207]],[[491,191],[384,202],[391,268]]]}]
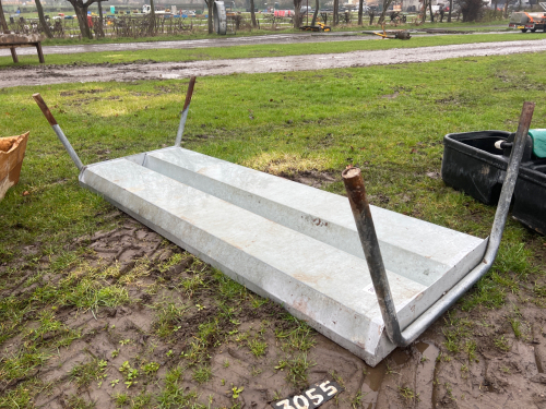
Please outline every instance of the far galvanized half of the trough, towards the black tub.
[{"label": "far galvanized half of the trough, towards the black tub", "polygon": [[[182,148],[147,153],[149,169],[228,201],[349,254],[365,257],[347,200],[325,191]],[[485,241],[370,206],[387,269],[425,286],[466,274]],[[456,282],[456,281],[455,281]],[[454,282],[452,284],[454,285]]]}]

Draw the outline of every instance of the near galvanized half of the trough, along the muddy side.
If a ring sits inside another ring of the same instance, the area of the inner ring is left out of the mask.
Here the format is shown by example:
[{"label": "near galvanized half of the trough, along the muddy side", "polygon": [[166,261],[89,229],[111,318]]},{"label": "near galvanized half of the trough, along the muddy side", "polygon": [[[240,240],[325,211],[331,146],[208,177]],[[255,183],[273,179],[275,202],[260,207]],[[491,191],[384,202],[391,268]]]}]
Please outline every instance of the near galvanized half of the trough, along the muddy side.
[{"label": "near galvanized half of the trough, along the muddy side", "polygon": [[[80,181],[370,364],[394,348],[361,258],[126,159],[88,166]],[[407,325],[426,287],[388,275]]]}]

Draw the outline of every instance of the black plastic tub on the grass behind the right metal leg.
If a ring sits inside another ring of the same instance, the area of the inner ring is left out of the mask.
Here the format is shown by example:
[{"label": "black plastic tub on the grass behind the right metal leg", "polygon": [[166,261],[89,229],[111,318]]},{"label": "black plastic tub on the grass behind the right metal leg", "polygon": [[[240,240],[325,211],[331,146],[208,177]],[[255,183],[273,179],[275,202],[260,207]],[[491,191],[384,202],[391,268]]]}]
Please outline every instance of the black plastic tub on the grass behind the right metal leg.
[{"label": "black plastic tub on the grass behind the right metal leg", "polygon": [[[506,176],[511,148],[498,148],[498,141],[513,141],[513,133],[478,131],[450,133],[443,139],[441,176],[446,184],[477,201],[496,205]],[[527,144],[515,183],[512,216],[531,229],[546,233],[546,159],[533,157]]]}]

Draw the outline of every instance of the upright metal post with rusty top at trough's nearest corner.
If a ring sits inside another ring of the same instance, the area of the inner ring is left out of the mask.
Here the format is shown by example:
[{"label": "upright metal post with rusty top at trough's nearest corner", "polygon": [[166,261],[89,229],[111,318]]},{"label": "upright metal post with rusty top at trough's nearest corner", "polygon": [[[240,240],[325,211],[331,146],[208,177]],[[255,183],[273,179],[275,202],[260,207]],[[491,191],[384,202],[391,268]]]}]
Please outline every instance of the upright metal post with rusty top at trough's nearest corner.
[{"label": "upright metal post with rusty top at trough's nearest corner", "polygon": [[383,257],[379,249],[370,206],[366,199],[366,189],[364,187],[360,169],[345,169],[342,173],[342,178],[345,183],[345,190],[347,191],[353,216],[355,217],[356,229],[358,230],[358,237],[363,244],[371,280],[373,281],[373,288],[376,290],[379,308],[381,309],[381,315],[383,316],[387,335],[394,344],[397,344],[401,334],[396,308],[394,306],[391,289],[389,287],[389,279],[387,278]]}]

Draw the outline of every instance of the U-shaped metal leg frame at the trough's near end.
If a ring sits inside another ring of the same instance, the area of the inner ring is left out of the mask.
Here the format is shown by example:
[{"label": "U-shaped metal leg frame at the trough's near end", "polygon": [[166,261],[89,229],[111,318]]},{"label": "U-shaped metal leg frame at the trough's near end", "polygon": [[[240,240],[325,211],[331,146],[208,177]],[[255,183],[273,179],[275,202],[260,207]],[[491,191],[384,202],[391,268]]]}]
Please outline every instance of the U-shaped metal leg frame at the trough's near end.
[{"label": "U-shaped metal leg frame at the trough's near end", "polygon": [[[366,192],[364,190],[360,171],[356,168],[349,168],[342,173],[345,182],[345,189],[347,190],[347,194],[349,196],[353,215],[355,216],[358,234],[366,254],[366,261],[370,269],[381,314],[383,316],[387,335],[391,341],[399,347],[407,347],[412,344],[420,334],[423,334],[423,332],[425,332],[425,329],[430,326],[430,324],[438,320],[485,274],[487,274],[489,268],[492,266],[499,250],[508,212],[510,209],[510,202],[512,200],[513,190],[518,180],[520,163],[523,156],[525,140],[531,125],[531,120],[533,118],[534,108],[534,103],[523,104],[514,145],[510,155],[505,182],[502,183],[502,190],[500,192],[499,204],[492,222],[491,236],[489,237],[482,263],[474,267],[474,269],[472,269],[461,281],[459,281],[440,300],[438,300],[432,306],[410,324],[402,333],[400,330],[394,303],[389,291],[389,282],[387,280],[384,267],[382,267],[383,262],[381,253],[379,252],[377,239],[376,242],[373,242],[373,239],[369,239],[370,237],[375,237],[376,232],[373,229],[373,222],[371,221],[371,215],[369,215],[369,207],[366,201]],[[352,179],[357,179],[359,181],[354,181]],[[361,187],[359,183],[361,183]],[[367,207],[368,210],[366,210]],[[369,220],[367,220],[368,217]],[[375,249],[376,246],[377,249]],[[375,278],[375,276],[378,276],[379,279]]]}]

